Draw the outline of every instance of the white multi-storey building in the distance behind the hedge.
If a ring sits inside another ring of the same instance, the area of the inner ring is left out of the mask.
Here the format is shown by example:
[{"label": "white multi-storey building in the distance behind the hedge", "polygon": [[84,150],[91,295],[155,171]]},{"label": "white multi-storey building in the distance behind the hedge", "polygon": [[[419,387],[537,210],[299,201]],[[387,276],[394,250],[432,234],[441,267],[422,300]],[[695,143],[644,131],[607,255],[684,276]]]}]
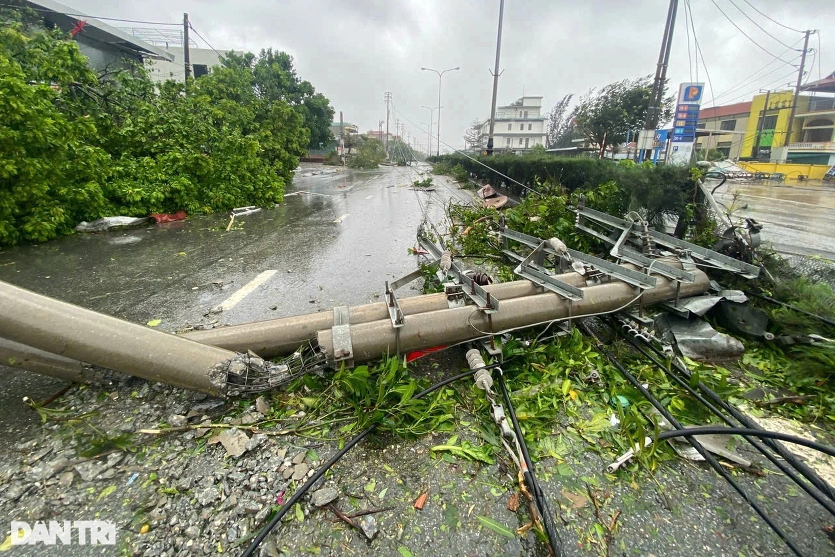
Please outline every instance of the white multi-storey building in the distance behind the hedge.
[{"label": "white multi-storey building in the distance behind the hedge", "polygon": [[[487,144],[490,120],[481,126],[483,145]],[[496,123],[493,127],[493,149],[514,152],[533,149],[545,144],[545,117],[542,114],[542,97],[522,97],[514,104],[496,107]]]}]

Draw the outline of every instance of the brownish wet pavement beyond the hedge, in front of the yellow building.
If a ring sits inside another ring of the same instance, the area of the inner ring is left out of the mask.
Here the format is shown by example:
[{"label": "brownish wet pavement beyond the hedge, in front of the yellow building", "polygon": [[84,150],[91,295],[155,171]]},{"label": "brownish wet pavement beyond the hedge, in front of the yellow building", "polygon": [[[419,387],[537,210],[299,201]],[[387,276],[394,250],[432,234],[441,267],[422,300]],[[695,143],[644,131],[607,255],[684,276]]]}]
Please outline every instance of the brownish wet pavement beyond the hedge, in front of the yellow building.
[{"label": "brownish wet pavement beyond the hedge, in front of the yellow building", "polygon": [[[718,180],[707,180],[713,189]],[[835,182],[775,184],[726,182],[715,198],[734,220],[753,218],[763,225],[763,242],[787,255],[835,260]]]}]

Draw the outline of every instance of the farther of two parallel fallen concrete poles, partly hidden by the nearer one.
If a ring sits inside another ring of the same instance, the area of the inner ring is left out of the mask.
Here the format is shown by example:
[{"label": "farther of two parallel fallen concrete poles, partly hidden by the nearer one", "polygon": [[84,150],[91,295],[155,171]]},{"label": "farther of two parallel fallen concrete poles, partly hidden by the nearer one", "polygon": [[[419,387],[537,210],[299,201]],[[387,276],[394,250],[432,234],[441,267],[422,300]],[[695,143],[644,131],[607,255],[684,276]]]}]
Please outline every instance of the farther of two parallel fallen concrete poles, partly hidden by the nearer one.
[{"label": "farther of two parallel fallen concrete poles, partly hidden by the nearer one", "polygon": [[[633,267],[630,266],[630,268]],[[572,286],[586,286],[584,276],[575,272],[564,273],[554,278]],[[520,296],[533,296],[545,291],[544,288],[531,281],[503,282],[483,288],[499,301]],[[448,307],[447,296],[443,292],[400,299],[400,309],[405,316],[444,310]],[[352,324],[375,322],[388,319],[388,308],[385,302],[378,301],[351,307],[348,316]],[[261,357],[271,358],[294,352],[302,343],[311,340],[316,332],[329,329],[333,327],[333,324],[332,311],[319,311],[301,316],[280,317],[243,325],[184,332],[180,336],[235,352],[251,350]]]}]

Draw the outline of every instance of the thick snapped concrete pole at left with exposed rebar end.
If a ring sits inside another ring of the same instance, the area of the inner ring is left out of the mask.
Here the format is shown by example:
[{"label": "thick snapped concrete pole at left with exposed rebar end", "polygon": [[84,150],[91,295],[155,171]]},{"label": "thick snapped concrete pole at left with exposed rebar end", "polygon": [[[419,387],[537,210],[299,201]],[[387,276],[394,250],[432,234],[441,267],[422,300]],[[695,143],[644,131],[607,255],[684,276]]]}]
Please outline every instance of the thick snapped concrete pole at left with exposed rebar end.
[{"label": "thick snapped concrete pole at left with exposed rebar end", "polygon": [[0,307],[2,338],[215,397],[266,390],[294,377],[285,364],[124,322],[3,281]]}]

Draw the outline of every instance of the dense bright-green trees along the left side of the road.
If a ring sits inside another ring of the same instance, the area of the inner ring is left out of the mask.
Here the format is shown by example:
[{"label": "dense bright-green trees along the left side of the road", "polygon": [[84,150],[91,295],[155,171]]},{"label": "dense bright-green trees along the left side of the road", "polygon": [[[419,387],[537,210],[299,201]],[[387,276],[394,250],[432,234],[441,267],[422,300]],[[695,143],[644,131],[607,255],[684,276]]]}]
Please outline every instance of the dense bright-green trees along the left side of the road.
[{"label": "dense bright-green trees along the left side of the road", "polygon": [[32,13],[0,19],[0,246],[102,216],[272,205],[330,139],[333,109],[286,53],[228,53],[205,77],[154,84],[129,63],[95,73]]}]

